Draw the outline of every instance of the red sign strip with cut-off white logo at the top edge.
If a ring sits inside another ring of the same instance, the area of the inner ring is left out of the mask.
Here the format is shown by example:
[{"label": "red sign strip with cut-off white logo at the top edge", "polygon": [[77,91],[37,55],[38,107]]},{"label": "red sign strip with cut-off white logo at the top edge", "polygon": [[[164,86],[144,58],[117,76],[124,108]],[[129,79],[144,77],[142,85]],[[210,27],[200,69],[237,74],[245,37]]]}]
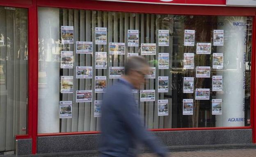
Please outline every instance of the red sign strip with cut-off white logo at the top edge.
[{"label": "red sign strip with cut-off white logo at the top edge", "polygon": [[151,4],[226,5],[226,0],[102,0]]}]

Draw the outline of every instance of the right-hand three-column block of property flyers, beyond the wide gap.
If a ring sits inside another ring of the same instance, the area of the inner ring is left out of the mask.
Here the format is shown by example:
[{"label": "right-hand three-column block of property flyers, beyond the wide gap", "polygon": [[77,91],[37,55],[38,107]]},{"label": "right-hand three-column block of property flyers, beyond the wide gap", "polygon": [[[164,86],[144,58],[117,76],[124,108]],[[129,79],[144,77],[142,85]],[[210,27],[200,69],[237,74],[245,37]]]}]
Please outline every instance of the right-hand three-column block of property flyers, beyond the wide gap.
[{"label": "right-hand three-column block of property flyers, beyond the wide gap", "polygon": [[[184,46],[195,46],[195,30],[184,31]],[[213,46],[223,46],[224,43],[224,30],[213,30]],[[222,75],[210,75],[212,69],[223,69],[223,53],[213,53],[211,55],[211,42],[197,42],[196,54],[184,53],[183,68],[196,70],[196,78],[183,77],[183,93],[193,93],[195,97],[191,97],[191,94],[187,99],[183,99],[183,115],[193,115],[194,100],[210,100],[210,91],[222,91]],[[211,66],[196,66],[194,65],[195,55],[211,55]],[[197,78],[210,78],[212,82],[212,88],[195,88],[194,80]],[[192,94],[192,95],[193,95]],[[212,99],[212,114],[222,114],[222,99]]]}]

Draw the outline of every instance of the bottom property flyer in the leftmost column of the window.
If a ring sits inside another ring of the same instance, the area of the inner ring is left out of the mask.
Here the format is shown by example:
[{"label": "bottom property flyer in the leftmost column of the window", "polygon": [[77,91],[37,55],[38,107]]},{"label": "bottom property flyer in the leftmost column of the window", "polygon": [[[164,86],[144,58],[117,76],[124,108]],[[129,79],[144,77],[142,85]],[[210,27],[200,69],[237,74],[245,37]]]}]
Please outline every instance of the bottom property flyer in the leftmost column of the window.
[{"label": "bottom property flyer in the leftmost column of the window", "polygon": [[72,101],[59,102],[59,118],[72,118]]}]

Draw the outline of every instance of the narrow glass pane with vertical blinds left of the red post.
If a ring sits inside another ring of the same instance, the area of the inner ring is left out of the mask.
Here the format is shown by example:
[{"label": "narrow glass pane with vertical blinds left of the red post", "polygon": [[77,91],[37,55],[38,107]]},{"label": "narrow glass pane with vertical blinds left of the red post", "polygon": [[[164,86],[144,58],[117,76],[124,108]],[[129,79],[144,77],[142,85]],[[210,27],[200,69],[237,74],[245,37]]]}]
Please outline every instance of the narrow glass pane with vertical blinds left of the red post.
[{"label": "narrow glass pane with vertical blinds left of the red post", "polygon": [[27,9],[0,7],[0,152],[27,133]]}]

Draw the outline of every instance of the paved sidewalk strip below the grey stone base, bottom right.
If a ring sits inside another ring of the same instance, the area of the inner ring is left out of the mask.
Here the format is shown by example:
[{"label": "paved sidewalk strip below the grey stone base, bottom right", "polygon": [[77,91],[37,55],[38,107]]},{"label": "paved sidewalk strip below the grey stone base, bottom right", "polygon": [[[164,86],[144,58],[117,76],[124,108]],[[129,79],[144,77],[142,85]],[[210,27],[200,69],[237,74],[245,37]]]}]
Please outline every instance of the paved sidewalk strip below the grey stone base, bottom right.
[{"label": "paved sidewalk strip below the grey stone base, bottom right", "polygon": [[[145,153],[139,157],[158,157]],[[173,152],[169,157],[256,157],[256,149],[202,150],[189,152]]]}]

